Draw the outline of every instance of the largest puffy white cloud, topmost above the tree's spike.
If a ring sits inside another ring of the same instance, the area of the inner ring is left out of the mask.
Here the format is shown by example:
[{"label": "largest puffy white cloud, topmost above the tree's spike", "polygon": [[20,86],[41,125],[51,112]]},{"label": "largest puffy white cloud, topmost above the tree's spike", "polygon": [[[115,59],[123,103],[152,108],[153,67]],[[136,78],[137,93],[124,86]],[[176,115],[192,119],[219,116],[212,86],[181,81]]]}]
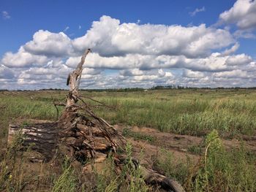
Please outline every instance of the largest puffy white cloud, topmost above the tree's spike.
[{"label": "largest puffy white cloud, topmost above the tree's spike", "polygon": [[91,47],[99,55],[109,57],[137,53],[196,58],[233,42],[229,31],[207,28],[205,24],[192,27],[138,25],[102,16],[83,37],[74,39],[72,45],[80,53]]}]

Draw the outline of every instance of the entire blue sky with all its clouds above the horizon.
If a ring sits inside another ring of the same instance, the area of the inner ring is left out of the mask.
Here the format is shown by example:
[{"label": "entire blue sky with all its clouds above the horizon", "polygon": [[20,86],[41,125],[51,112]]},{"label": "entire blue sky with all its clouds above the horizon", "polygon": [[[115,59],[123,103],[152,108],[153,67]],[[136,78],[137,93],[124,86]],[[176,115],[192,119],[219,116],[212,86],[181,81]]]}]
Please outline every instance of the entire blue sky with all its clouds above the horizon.
[{"label": "entire blue sky with all its clouds above the horizon", "polygon": [[0,1],[0,89],[256,86],[256,1]]}]

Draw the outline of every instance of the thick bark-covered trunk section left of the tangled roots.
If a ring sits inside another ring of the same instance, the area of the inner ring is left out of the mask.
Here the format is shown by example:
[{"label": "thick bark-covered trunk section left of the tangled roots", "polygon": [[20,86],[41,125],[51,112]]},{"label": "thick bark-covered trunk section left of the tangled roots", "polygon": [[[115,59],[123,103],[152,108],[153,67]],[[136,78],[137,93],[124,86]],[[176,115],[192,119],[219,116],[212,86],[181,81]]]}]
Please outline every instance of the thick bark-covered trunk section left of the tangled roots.
[{"label": "thick bark-covered trunk section left of the tangled roots", "polygon": [[59,138],[57,123],[35,123],[31,126],[10,125],[8,134],[8,145],[10,145],[17,134],[22,134],[23,148],[30,147],[37,151],[39,157],[31,157],[33,161],[50,161],[56,154]]}]

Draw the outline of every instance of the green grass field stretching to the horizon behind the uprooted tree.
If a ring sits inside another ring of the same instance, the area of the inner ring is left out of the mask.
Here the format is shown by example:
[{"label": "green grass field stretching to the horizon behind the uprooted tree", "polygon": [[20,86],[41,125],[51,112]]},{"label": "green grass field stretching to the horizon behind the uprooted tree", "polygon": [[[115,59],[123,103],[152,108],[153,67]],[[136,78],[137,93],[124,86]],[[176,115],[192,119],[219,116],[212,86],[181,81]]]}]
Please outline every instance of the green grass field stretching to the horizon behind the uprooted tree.
[{"label": "green grass field stretching to the horizon behind the uprooted tree", "polygon": [[[21,92],[22,93],[22,92]],[[36,118],[55,120],[52,99],[64,101],[65,91],[31,92],[6,96],[0,93],[1,120]],[[82,92],[116,108],[94,111],[110,123],[148,126],[160,131],[195,136],[213,129],[222,137],[253,135],[256,127],[256,91],[167,90],[136,92]],[[92,101],[88,101],[93,104]],[[95,104],[95,103],[94,103]],[[61,107],[59,108],[61,110]],[[5,122],[6,123],[6,122]],[[6,124],[5,124],[6,125]],[[1,130],[6,136],[6,131]]]}]

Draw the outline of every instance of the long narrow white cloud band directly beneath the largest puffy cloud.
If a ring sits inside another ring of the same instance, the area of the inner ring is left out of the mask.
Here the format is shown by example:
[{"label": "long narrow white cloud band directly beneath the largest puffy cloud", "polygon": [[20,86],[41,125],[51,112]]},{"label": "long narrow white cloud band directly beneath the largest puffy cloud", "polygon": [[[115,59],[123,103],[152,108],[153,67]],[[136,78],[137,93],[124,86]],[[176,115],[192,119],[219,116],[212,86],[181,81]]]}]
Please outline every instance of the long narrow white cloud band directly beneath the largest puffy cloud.
[{"label": "long narrow white cloud band directly beneath the largest puffy cloud", "polygon": [[[80,57],[69,57],[66,65],[75,67]],[[122,75],[136,75],[144,70],[186,68],[200,72],[217,72],[233,69],[234,66],[249,64],[249,55],[222,55],[212,53],[206,58],[186,58],[184,55],[140,55],[102,57],[91,53],[86,58],[86,67],[94,69],[122,70]]]}]

